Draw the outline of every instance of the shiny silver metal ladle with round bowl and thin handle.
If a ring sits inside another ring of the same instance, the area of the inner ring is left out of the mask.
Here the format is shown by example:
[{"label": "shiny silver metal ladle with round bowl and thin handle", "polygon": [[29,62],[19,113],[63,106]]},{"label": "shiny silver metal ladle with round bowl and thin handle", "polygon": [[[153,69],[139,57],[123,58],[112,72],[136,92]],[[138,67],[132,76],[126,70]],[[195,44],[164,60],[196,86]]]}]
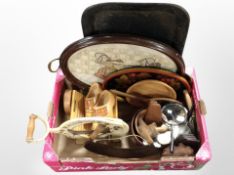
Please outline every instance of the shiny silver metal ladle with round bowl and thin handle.
[{"label": "shiny silver metal ladle with round bowl and thin handle", "polygon": [[169,103],[162,107],[162,118],[171,127],[170,151],[174,151],[174,132],[173,127],[187,121],[188,111],[179,103]]}]

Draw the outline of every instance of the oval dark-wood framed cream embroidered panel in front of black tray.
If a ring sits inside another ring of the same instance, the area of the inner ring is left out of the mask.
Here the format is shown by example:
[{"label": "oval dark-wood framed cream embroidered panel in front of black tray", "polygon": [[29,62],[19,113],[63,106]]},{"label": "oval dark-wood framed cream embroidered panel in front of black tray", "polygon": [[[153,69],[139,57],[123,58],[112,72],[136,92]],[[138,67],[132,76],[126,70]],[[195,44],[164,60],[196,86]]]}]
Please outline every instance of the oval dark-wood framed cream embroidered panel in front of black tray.
[{"label": "oval dark-wood framed cream embroidered panel in front of black tray", "polygon": [[173,48],[132,36],[85,37],[69,45],[60,56],[66,78],[79,88],[102,83],[111,73],[149,67],[184,75],[184,62]]}]

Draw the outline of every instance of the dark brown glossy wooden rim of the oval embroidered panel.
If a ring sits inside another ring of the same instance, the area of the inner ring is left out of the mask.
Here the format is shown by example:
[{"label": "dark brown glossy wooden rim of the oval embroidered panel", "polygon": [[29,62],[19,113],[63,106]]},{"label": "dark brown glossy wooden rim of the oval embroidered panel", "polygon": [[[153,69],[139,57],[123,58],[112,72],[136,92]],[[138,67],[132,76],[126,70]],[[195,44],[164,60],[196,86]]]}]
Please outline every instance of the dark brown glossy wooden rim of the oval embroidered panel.
[{"label": "dark brown glossy wooden rim of the oval embroidered panel", "polygon": [[60,67],[66,78],[79,88],[85,89],[89,87],[89,85],[78,80],[76,77],[72,75],[72,73],[69,71],[67,66],[68,60],[73,53],[75,53],[80,49],[92,45],[109,44],[109,43],[131,44],[131,45],[137,45],[137,46],[154,49],[169,56],[175,62],[175,64],[177,65],[177,74],[183,76],[185,73],[185,65],[181,55],[170,46],[167,46],[157,41],[134,37],[134,36],[128,36],[128,35],[119,35],[119,36],[99,35],[99,36],[85,37],[81,40],[78,40],[72,43],[71,45],[69,45],[62,52],[60,56]]}]

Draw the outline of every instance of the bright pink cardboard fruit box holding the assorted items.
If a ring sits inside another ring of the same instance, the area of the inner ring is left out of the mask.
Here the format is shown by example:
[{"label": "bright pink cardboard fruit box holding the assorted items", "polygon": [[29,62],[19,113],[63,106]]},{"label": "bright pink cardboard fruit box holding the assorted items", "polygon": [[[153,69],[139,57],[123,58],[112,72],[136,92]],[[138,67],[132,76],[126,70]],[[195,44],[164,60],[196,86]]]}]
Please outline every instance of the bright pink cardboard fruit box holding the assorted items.
[{"label": "bright pink cardboard fruit box holding the assorted items", "polygon": [[[188,72],[188,71],[187,71]],[[95,154],[84,157],[85,154],[77,152],[72,153],[72,146],[64,136],[50,134],[45,141],[43,160],[54,171],[112,171],[112,170],[191,170],[199,169],[211,159],[211,151],[206,129],[205,117],[200,110],[200,95],[196,81],[195,71],[190,71],[193,79],[192,94],[195,101],[196,120],[199,130],[201,146],[194,157],[182,157],[180,159],[168,160],[128,160],[119,158],[106,158],[100,156],[95,158]],[[53,104],[53,116],[49,118],[50,127],[56,127],[57,117],[59,116],[59,104],[61,92],[64,86],[64,75],[61,70],[57,72]],[[70,144],[70,145],[69,145]],[[69,145],[69,148],[67,146]],[[67,151],[66,149],[69,149]],[[73,149],[73,150],[72,150]],[[79,157],[80,154],[80,157]]]}]

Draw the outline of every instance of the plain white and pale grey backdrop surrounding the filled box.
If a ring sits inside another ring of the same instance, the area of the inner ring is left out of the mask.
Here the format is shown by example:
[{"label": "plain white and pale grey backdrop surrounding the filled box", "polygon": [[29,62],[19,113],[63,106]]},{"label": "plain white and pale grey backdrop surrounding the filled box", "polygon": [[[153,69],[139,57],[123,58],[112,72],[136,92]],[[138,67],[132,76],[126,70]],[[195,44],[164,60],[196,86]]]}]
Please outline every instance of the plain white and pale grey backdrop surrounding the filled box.
[{"label": "plain white and pale grey backdrop surrounding the filled box", "polygon": [[[58,57],[68,44],[82,38],[81,14],[98,2],[105,1],[0,1],[0,174],[56,174],[42,161],[43,143],[24,142],[26,124],[31,112],[46,116],[55,80],[55,74],[47,70],[47,63]],[[201,96],[208,110],[206,121],[213,158],[197,171],[111,174],[233,174],[233,3],[147,2],[179,4],[190,14],[183,57],[186,65],[194,66],[197,71]],[[107,173],[110,172],[80,174]]]}]

